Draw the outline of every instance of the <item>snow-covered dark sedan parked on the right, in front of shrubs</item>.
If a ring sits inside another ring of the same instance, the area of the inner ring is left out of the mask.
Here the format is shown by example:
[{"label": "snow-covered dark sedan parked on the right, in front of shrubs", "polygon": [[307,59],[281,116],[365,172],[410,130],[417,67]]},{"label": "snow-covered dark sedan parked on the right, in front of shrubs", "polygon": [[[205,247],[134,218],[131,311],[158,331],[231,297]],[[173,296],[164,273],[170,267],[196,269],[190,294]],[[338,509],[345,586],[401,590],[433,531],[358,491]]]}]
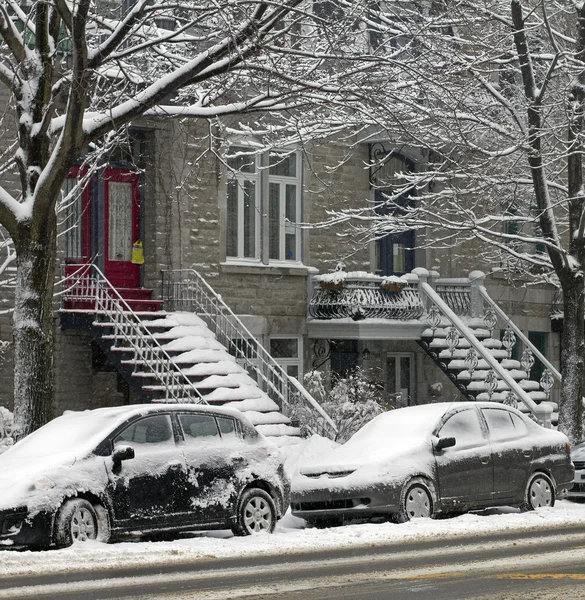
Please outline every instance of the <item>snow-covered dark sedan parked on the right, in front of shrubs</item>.
[{"label": "snow-covered dark sedan parked on the right, in front of shrubs", "polygon": [[315,525],[399,521],[488,506],[552,506],[573,479],[566,436],[488,402],[393,410],[293,478],[292,513]]}]

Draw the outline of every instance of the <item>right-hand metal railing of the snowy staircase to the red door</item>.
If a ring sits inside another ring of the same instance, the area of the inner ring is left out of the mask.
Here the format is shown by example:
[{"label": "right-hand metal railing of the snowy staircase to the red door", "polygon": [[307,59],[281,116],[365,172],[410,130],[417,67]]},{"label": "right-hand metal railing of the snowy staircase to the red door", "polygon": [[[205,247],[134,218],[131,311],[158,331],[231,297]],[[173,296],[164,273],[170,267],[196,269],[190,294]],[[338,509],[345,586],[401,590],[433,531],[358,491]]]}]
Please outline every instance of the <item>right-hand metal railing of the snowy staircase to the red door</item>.
[{"label": "right-hand metal railing of the snowy staircase to the red door", "polygon": [[312,433],[335,437],[337,427],[319,403],[294,378],[290,377],[270,353],[248,331],[205,279],[193,269],[163,271],[162,297],[172,310],[195,312],[214,331],[218,341],[257,375],[260,388],[295,419],[307,414],[312,423],[303,423]]}]

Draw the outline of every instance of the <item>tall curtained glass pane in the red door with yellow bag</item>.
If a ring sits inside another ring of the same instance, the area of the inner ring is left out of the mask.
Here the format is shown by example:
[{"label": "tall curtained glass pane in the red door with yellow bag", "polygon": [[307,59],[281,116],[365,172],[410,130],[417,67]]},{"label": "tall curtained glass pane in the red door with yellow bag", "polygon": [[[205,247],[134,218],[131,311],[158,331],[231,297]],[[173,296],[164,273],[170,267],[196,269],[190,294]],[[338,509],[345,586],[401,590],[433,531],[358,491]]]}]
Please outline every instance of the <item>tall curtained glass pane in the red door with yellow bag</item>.
[{"label": "tall curtained glass pane in the red door with yellow bag", "polygon": [[130,261],[132,258],[132,184],[108,182],[109,235],[108,258]]}]

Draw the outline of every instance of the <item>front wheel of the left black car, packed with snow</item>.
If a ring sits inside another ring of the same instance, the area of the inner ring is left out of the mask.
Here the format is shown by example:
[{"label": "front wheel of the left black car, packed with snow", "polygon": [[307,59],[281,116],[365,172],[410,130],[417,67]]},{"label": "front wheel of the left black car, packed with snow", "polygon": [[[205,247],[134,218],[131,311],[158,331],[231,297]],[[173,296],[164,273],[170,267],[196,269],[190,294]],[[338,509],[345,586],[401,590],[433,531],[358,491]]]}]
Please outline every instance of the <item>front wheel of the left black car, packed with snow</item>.
[{"label": "front wheel of the left black car, packed with snow", "polygon": [[88,540],[107,541],[108,534],[105,509],[94,507],[83,498],[67,500],[57,513],[54,537],[60,548]]}]

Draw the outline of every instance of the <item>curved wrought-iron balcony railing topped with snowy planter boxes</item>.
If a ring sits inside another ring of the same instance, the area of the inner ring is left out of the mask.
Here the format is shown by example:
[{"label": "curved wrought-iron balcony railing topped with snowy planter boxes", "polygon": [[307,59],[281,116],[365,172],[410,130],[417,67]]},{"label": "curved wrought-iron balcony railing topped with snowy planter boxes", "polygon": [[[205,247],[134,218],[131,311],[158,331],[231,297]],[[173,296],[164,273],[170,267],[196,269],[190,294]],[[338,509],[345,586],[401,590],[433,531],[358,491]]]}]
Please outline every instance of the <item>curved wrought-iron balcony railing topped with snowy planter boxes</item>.
[{"label": "curved wrought-iron balcony railing topped with snowy planter boxes", "polygon": [[424,306],[413,281],[389,282],[370,273],[313,278],[309,314],[315,319],[419,319]]}]

